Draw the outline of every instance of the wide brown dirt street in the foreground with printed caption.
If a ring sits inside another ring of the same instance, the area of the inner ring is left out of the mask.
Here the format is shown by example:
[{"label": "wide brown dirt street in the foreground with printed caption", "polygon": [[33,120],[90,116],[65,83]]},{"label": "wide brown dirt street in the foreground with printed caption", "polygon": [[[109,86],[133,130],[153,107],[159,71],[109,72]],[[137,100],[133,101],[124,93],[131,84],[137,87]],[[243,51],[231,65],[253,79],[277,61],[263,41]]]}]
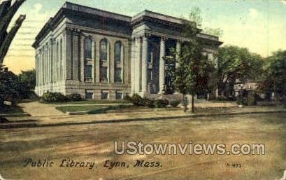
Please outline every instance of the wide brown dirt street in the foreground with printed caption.
[{"label": "wide brown dirt street in the foreground with printed caption", "polygon": [[[6,179],[281,179],[286,169],[286,113],[1,130],[0,173]],[[265,155],[115,155],[114,141],[143,144],[265,144]],[[53,167],[23,167],[32,158]],[[96,162],[93,169],[59,167],[63,159]],[[129,168],[103,167],[106,160]],[[133,167],[136,160],[162,167]],[[227,164],[241,167],[227,167]],[[5,169],[5,170],[1,170]]]}]

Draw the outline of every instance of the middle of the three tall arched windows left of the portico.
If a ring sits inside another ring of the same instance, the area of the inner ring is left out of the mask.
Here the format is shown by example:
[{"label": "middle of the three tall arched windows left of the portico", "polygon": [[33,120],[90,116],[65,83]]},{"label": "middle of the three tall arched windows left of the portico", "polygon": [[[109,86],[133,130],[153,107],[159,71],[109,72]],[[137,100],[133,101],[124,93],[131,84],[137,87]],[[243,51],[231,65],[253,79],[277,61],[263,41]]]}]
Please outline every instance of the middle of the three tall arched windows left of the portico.
[{"label": "middle of the three tall arched windows left of the portico", "polygon": [[108,82],[108,62],[109,62],[109,46],[107,39],[102,39],[100,41],[100,72],[99,78],[100,82],[107,83]]}]

